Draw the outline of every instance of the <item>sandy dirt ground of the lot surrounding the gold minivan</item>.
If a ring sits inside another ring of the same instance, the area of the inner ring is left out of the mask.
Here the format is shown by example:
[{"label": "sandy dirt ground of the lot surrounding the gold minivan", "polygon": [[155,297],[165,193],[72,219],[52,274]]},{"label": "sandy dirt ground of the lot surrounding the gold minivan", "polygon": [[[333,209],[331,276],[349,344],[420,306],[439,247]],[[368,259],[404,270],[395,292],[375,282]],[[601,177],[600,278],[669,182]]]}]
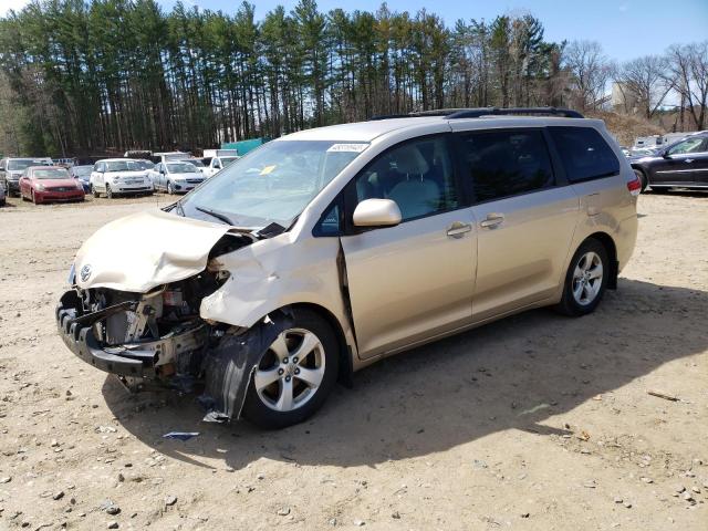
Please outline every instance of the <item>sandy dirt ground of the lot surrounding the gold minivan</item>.
[{"label": "sandy dirt ground of the lot surrounding the gold minivan", "polygon": [[389,358],[274,433],[127,395],[56,335],[81,242],[167,202],[0,208],[0,529],[707,529],[708,196],[639,198],[593,315],[531,311]]}]

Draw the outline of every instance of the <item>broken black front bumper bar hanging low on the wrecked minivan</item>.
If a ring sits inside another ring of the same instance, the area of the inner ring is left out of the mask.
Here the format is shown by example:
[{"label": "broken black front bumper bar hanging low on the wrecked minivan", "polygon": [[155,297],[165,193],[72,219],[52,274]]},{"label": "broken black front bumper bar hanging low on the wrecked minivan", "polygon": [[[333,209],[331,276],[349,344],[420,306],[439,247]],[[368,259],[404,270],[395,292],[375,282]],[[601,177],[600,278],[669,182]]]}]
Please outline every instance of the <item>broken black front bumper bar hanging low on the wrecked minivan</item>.
[{"label": "broken black front bumper bar hanging low on the wrecked minivan", "polygon": [[67,291],[56,306],[59,335],[71,352],[106,373],[138,378],[155,375],[154,356],[126,352],[121,347],[102,347],[94,335],[94,323],[76,321],[80,304],[76,293]]}]

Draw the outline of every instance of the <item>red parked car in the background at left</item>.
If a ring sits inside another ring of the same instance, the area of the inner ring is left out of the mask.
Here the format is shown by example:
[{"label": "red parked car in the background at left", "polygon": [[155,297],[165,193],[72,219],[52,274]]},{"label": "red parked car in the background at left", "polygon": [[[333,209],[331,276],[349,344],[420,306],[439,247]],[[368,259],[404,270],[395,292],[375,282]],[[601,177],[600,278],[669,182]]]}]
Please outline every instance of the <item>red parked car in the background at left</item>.
[{"label": "red parked car in the background at left", "polygon": [[34,204],[46,201],[83,201],[84,188],[66,168],[30,166],[20,178],[20,195]]}]

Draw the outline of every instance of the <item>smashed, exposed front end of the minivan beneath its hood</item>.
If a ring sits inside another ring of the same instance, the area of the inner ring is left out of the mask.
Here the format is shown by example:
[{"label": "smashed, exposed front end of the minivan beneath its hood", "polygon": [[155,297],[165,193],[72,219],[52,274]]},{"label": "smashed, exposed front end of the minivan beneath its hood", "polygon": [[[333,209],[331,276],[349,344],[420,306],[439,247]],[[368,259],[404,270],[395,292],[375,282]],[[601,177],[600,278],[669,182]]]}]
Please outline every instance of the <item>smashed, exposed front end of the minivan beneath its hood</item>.
[{"label": "smashed, exposed front end of the minivan beneath its hood", "polygon": [[287,311],[244,329],[208,322],[199,308],[230,277],[219,269],[218,257],[250,241],[250,235],[227,233],[204,271],[146,293],[74,284],[56,309],[64,343],[85,362],[115,374],[132,392],[201,388],[205,420],[238,418],[252,371],[288,325]]}]

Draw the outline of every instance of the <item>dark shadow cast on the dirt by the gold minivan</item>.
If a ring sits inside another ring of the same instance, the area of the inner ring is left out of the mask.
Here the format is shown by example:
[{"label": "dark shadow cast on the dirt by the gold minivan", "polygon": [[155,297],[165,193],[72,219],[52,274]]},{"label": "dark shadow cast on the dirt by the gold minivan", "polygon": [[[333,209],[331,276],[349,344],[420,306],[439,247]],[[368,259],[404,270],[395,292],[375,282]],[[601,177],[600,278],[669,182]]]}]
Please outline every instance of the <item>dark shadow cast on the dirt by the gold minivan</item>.
[{"label": "dark shadow cast on the dirt by the gold minivan", "polygon": [[[568,433],[543,423],[705,351],[707,310],[704,291],[621,279],[592,315],[534,310],[385,360],[356,373],[353,389],[337,387],[311,420],[279,431],[205,424],[194,396],[128,396],[113,377],[103,394],[139,440],[197,466],[211,466],[199,462],[204,457],[236,469],[263,457],[375,466],[500,430]],[[162,438],[174,430],[200,436]]]}]

